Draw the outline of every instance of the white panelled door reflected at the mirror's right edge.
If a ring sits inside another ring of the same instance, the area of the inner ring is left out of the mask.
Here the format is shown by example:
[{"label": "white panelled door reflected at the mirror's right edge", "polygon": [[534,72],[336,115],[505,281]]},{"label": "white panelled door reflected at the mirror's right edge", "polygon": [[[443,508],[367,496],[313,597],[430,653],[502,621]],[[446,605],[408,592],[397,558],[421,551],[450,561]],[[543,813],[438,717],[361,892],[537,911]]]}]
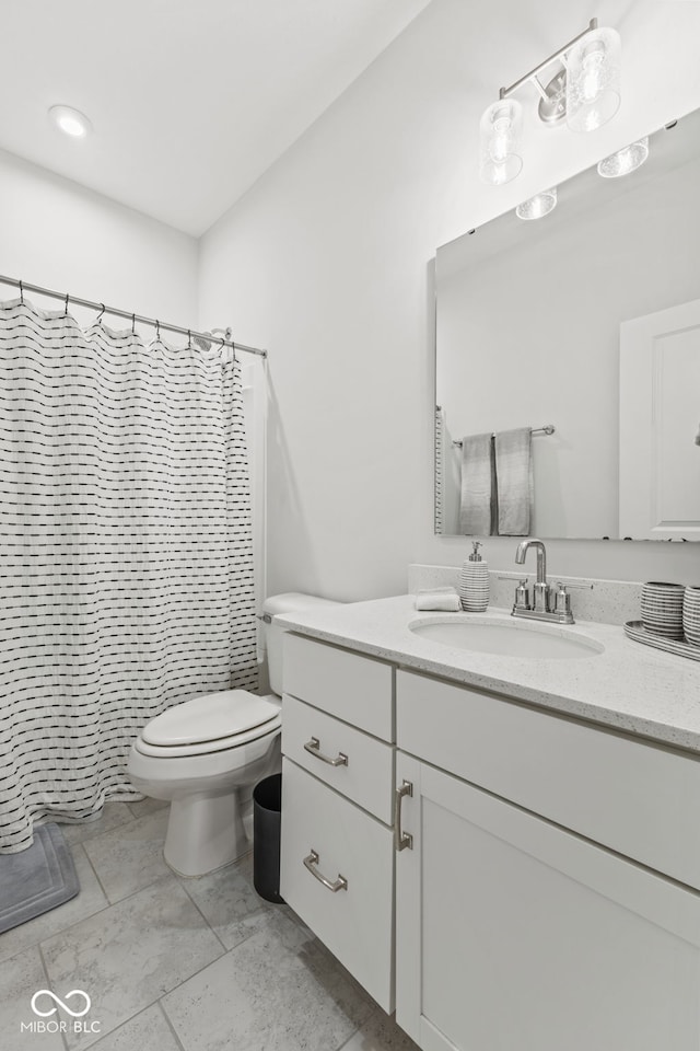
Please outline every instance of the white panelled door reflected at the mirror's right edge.
[{"label": "white panelled door reflected at the mirror's right edge", "polygon": [[621,538],[700,540],[699,430],[700,299],[622,322]]}]

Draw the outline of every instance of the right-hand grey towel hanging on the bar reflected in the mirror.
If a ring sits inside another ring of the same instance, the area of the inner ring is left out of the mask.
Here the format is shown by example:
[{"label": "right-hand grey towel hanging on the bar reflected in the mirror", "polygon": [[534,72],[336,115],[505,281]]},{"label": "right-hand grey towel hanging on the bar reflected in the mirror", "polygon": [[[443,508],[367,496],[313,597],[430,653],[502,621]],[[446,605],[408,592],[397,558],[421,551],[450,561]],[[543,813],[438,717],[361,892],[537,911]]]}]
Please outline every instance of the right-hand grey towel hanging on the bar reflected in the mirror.
[{"label": "right-hand grey towel hanging on the bar reflected in the mirror", "polygon": [[495,435],[499,535],[528,536],[534,501],[530,427]]}]

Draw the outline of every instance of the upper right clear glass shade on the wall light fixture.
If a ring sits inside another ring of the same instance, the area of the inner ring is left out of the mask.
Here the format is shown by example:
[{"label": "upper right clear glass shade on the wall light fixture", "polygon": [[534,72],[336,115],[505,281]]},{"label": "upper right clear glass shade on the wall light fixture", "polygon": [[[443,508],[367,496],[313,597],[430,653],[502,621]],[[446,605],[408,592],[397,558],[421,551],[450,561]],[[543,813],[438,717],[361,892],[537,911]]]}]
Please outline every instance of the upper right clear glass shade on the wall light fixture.
[{"label": "upper right clear glass shade on the wall light fixture", "polygon": [[565,56],[567,124],[572,131],[594,131],[620,106],[620,35],[598,28],[586,33]]}]

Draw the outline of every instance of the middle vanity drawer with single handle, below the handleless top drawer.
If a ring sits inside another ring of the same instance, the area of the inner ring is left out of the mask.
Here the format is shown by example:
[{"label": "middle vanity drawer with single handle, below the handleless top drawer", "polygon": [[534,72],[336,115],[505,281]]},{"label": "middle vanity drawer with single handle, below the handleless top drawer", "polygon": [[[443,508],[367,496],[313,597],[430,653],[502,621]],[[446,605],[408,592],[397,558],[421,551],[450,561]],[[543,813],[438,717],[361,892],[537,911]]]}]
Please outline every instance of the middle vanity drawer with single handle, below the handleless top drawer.
[{"label": "middle vanity drawer with single handle, below the handleless top drawer", "polygon": [[[296,697],[282,698],[282,752],[386,824],[392,823],[394,751],[393,744]],[[338,762],[343,757],[346,762]]]}]

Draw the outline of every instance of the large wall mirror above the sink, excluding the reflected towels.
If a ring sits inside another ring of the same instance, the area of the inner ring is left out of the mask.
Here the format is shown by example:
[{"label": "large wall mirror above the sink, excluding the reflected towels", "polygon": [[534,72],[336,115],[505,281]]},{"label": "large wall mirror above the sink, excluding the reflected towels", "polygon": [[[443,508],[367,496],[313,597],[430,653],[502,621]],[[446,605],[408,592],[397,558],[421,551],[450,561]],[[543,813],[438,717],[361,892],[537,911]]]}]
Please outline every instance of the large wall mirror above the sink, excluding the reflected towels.
[{"label": "large wall mirror above the sink, excluding the reflected towels", "polygon": [[625,177],[438,249],[438,533],[474,532],[465,441],[528,428],[527,532],[504,534],[700,539],[699,187],[700,111]]}]

